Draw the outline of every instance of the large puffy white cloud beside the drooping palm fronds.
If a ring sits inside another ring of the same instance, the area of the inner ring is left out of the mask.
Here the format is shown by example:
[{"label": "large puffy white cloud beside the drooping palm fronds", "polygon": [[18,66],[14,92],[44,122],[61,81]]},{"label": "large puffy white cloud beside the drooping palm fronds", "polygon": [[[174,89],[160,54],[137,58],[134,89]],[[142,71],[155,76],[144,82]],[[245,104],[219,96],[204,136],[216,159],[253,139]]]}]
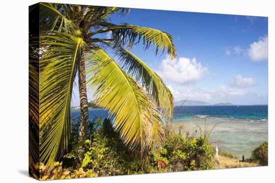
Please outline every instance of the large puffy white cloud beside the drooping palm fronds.
[{"label": "large puffy white cloud beside the drooping palm fronds", "polygon": [[162,79],[167,79],[176,83],[191,83],[202,78],[208,73],[207,67],[203,67],[195,58],[189,59],[179,57],[170,60],[166,57],[161,61],[159,71],[157,71]]}]

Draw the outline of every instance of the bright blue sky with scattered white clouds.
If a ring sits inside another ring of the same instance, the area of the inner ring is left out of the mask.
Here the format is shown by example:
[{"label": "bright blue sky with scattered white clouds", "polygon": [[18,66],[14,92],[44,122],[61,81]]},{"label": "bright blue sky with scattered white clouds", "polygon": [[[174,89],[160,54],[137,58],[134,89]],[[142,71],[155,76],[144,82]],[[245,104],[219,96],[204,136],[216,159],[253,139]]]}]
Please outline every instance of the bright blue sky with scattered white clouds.
[{"label": "bright blue sky with scattered white clouds", "polygon": [[[174,60],[166,52],[155,55],[153,46],[144,51],[139,44],[131,52],[163,79],[175,101],[267,104],[267,17],[132,8],[126,16],[112,15],[111,22],[172,36]],[[71,106],[79,106],[75,83]]]}]

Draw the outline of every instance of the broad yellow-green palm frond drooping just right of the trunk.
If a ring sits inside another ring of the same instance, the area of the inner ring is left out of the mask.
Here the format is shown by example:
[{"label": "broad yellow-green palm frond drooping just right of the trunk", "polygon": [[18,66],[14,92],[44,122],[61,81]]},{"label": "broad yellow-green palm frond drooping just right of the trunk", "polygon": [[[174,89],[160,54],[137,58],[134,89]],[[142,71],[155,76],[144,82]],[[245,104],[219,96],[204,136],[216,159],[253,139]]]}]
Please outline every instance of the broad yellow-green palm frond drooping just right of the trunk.
[{"label": "broad yellow-green palm frond drooping just right of the trunk", "polygon": [[142,157],[152,139],[153,114],[148,97],[132,77],[102,49],[87,57],[87,85],[100,107],[114,115],[114,128],[130,149],[140,148]]}]

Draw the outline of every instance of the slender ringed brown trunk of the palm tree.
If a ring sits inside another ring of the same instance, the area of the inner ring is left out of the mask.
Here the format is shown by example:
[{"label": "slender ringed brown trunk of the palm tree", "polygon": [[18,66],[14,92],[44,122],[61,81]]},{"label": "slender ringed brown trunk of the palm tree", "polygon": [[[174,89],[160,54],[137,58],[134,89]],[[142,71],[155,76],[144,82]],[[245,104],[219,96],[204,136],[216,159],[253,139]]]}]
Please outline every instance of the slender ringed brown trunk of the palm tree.
[{"label": "slender ringed brown trunk of the palm tree", "polygon": [[[84,60],[80,61],[78,69],[78,89],[80,99],[80,129],[78,140],[79,142],[85,140],[88,132],[88,99],[87,99],[87,88],[86,88],[86,75],[85,75],[85,63]],[[83,153],[84,147],[79,147],[78,150],[78,163],[82,162],[81,154]]]}]

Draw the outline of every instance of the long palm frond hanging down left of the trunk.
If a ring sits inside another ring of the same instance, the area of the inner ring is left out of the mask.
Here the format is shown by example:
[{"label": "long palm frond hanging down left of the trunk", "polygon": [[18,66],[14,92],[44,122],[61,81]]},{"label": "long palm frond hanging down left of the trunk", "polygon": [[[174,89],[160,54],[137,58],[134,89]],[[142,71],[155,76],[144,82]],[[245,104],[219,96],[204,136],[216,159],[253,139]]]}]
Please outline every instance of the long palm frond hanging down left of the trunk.
[{"label": "long palm frond hanging down left of the trunk", "polygon": [[70,135],[73,81],[85,43],[63,33],[41,36],[41,162],[51,163],[66,148]]}]

